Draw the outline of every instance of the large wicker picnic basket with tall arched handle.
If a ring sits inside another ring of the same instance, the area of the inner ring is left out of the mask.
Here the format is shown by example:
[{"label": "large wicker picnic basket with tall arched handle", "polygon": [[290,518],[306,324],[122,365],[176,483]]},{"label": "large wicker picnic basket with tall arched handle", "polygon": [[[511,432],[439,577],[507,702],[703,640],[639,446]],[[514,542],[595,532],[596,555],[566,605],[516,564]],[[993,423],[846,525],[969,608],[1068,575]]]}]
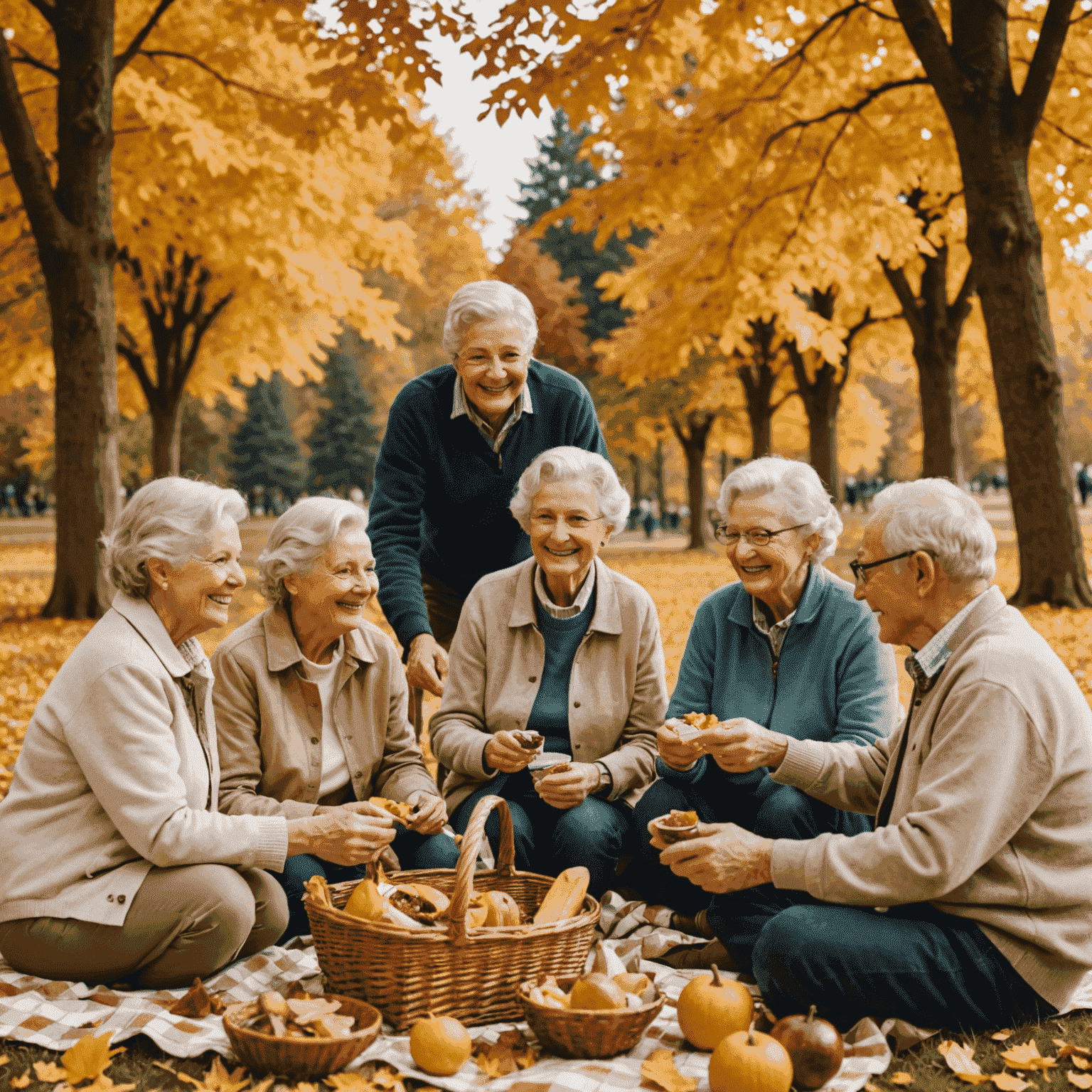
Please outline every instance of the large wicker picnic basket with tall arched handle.
[{"label": "large wicker picnic basket with tall arched handle", "polygon": [[[494,809],[500,819],[497,867],[475,871],[485,821]],[[521,982],[538,973],[560,976],[583,971],[600,904],[587,895],[579,914],[560,922],[467,929],[472,890],[506,891],[524,916],[538,907],[553,878],[517,871],[514,860],[508,804],[499,796],[486,796],[471,816],[455,868],[391,877],[393,882],[428,883],[447,894],[451,907],[444,929],[408,929],[344,913],[341,907],[356,886],[353,881],[331,886],[334,910],[305,895],[327,988],[375,1005],[395,1030],[429,1012],[466,1024],[520,1019]]]}]

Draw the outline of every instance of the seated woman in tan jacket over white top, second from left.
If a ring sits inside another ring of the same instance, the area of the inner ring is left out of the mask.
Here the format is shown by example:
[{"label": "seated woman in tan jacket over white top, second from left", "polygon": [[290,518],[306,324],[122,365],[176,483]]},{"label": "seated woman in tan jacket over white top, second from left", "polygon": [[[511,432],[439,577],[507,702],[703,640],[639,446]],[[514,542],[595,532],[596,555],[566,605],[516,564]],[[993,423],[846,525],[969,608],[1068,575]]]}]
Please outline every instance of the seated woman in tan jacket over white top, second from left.
[{"label": "seated woman in tan jacket over white top, second from left", "polygon": [[[339,817],[375,822],[371,796],[416,808],[393,851],[410,868],[453,868],[459,851],[443,800],[406,721],[397,650],[364,617],[376,594],[367,513],[310,497],[288,509],[258,559],[271,606],[216,649],[222,807],[237,816]],[[288,895],[286,936],[310,933],[302,903],[312,876],[363,877],[335,842],[290,855],[277,876]]]}]

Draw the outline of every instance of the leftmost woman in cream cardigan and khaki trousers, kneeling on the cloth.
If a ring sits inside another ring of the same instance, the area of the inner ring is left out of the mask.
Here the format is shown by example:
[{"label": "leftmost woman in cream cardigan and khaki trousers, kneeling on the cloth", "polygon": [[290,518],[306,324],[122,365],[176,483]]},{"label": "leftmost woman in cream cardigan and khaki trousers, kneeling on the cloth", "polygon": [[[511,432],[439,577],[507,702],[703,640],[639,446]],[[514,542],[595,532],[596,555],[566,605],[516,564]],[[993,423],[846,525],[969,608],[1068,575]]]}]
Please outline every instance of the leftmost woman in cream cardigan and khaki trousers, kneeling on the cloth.
[{"label": "leftmost woman in cream cardigan and khaki trousers, kneeling on the cloth", "polygon": [[61,666],[7,798],[0,952],[16,970],[186,985],[274,943],[288,919],[264,869],[336,845],[368,860],[389,818],[221,812],[212,674],[197,638],[246,582],[230,489],[167,477],[103,538],[114,604]]}]

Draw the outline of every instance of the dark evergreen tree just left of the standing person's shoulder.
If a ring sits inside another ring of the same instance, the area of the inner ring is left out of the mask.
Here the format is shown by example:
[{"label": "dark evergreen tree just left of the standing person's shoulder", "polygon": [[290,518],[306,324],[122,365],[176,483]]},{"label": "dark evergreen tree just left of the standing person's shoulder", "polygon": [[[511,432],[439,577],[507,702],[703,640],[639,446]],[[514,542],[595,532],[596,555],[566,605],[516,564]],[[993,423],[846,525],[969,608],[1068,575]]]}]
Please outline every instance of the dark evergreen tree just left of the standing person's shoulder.
[{"label": "dark evergreen tree just left of the standing person's shoulder", "polygon": [[346,327],[333,345],[323,346],[325,360],[317,361],[324,373],[319,393],[329,406],[320,411],[307,438],[307,487],[312,492],[333,489],[347,497],[356,486],[371,495],[379,432],[372,422],[375,407],[354,366],[363,347],[359,334]]}]

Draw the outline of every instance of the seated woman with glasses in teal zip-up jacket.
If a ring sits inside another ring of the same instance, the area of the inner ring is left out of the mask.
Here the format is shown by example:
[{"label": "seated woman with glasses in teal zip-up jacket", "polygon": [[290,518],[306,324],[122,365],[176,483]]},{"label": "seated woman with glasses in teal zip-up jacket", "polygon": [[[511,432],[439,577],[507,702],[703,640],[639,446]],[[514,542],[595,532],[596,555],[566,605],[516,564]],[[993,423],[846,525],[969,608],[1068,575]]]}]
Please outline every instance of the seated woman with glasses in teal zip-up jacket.
[{"label": "seated woman with glasses in teal zip-up jacket", "polygon": [[[842,520],[806,463],[770,456],[733,471],[721,487],[727,547],[737,582],[698,607],[668,715],[713,713],[719,727],[682,740],[657,733],[661,780],[642,797],[637,821],[672,808],[704,822],[734,822],[767,838],[856,834],[867,817],[842,811],[798,788],[776,785],[746,753],[747,728],[796,739],[869,745],[893,727],[894,657],[879,643],[868,607],[822,562],[834,553]],[[704,913],[709,895],[660,864],[643,840],[646,890],[678,913],[676,925],[720,936]],[[690,915],[696,915],[691,917]]]}]

